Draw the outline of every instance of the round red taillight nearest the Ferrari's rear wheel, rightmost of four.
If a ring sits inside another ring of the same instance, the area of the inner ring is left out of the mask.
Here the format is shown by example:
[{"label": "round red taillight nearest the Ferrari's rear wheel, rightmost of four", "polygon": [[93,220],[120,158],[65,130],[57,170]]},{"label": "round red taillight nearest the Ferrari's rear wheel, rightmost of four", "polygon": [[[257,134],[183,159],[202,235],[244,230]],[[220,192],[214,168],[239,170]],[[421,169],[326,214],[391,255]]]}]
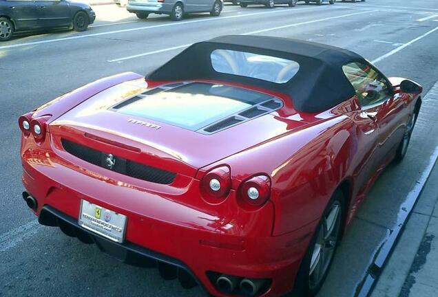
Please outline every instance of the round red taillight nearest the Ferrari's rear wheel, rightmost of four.
[{"label": "round red taillight nearest the Ferrari's rear wheel, rightmost of four", "polygon": [[271,195],[271,179],[267,175],[251,177],[240,186],[242,206],[262,206]]}]

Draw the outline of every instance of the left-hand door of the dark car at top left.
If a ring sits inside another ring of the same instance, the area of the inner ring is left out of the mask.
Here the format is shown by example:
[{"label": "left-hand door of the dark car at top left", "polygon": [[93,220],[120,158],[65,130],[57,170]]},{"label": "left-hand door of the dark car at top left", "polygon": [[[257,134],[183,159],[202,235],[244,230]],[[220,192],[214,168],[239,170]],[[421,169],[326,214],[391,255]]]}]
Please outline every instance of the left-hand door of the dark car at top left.
[{"label": "left-hand door of the dark car at top left", "polygon": [[33,0],[7,0],[6,2],[16,30],[38,27],[38,10]]}]

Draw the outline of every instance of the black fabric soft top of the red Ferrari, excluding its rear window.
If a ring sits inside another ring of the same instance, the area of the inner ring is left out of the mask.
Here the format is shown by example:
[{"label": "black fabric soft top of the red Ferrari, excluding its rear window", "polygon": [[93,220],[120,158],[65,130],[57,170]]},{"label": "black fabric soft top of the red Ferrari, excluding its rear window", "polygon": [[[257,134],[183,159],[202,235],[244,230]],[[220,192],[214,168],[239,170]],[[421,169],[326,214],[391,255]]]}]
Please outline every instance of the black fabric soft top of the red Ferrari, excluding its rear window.
[{"label": "black fabric soft top of the red Ferrari, excluding its rear window", "polygon": [[[275,56],[298,62],[300,69],[286,83],[219,73],[211,65],[213,50]],[[320,112],[355,95],[353,86],[342,72],[342,66],[351,61],[364,61],[364,58],[349,50],[320,43],[269,36],[229,35],[194,43],[147,75],[147,79],[211,79],[255,85],[288,94],[298,111]]]}]

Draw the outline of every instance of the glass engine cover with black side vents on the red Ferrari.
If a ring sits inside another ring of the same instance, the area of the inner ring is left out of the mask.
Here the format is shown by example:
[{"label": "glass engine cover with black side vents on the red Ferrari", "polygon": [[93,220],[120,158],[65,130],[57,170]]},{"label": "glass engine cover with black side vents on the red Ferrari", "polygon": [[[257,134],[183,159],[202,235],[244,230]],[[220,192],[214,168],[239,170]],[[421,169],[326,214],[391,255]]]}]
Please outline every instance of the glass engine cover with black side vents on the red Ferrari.
[{"label": "glass engine cover with black side vents on the red Ferrari", "polygon": [[258,91],[213,83],[175,83],[119,102],[111,109],[209,134],[280,107],[280,99]]}]

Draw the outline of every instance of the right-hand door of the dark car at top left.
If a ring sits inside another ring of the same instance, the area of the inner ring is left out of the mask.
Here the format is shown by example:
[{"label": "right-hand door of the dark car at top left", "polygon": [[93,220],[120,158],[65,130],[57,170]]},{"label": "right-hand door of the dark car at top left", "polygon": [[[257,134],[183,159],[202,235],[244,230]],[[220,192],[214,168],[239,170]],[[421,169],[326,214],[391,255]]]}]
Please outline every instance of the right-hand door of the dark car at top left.
[{"label": "right-hand door of the dark car at top left", "polygon": [[66,27],[72,23],[70,5],[64,0],[35,1],[39,10],[39,25],[41,27]]}]

